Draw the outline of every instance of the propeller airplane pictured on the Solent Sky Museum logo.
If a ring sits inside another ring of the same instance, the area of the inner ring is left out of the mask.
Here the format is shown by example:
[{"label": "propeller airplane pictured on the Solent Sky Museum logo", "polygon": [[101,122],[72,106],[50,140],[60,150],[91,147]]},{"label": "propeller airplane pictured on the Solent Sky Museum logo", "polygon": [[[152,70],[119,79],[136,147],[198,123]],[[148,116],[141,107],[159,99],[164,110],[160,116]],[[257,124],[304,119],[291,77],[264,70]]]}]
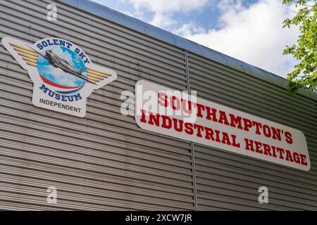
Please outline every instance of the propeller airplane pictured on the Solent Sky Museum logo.
[{"label": "propeller airplane pictured on the Solent Sky Museum logo", "polygon": [[85,80],[85,82],[89,82],[91,84],[96,85],[94,82],[91,82],[89,79],[87,79],[87,77],[85,77],[85,75],[82,75],[82,68],[80,68],[79,70],[76,70],[75,68],[73,68],[72,65],[70,65],[70,63],[68,63],[67,60],[63,60],[62,58],[57,56],[55,53],[53,53],[51,50],[46,50],[45,55],[44,55],[43,53],[40,53],[39,51],[34,49],[32,46],[30,46],[30,45],[27,45],[27,46],[29,46],[36,53],[38,53],[40,56],[42,56],[47,61],[49,61],[49,63],[52,66],[54,66],[54,68],[60,68],[61,70],[63,70],[63,72],[66,72],[70,75],[74,75],[80,79]]}]

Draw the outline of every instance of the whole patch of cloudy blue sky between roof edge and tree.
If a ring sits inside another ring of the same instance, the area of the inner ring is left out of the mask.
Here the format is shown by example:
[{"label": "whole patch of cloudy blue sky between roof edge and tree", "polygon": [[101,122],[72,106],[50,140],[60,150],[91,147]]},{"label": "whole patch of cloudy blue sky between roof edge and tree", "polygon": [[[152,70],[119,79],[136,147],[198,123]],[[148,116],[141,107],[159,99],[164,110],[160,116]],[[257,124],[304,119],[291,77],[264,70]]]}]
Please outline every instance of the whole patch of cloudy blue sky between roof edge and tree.
[{"label": "whole patch of cloudy blue sky between roof edge and tree", "polygon": [[286,77],[297,63],[283,56],[297,27],[282,21],[297,11],[282,0],[91,0]]}]

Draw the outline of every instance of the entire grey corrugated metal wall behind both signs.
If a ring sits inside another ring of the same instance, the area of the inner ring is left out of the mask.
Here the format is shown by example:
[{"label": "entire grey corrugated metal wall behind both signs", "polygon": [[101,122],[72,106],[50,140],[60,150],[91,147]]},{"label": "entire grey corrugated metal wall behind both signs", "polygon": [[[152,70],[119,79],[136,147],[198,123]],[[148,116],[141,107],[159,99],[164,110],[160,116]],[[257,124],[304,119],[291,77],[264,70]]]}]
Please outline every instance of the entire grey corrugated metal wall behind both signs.
[{"label": "entire grey corrugated metal wall behind both signs", "polygon": [[[46,20],[46,5],[58,20]],[[151,134],[120,114],[135,82],[186,90],[185,53],[56,1],[0,0],[0,38],[61,37],[118,79],[94,91],[85,118],[32,105],[27,72],[0,46],[1,210],[194,210],[190,143]],[[194,144],[198,210],[317,210],[316,102],[189,53],[189,82],[201,98],[301,129],[311,171],[302,172]],[[46,203],[56,186],[58,204]],[[267,186],[269,204],[257,201]]]}]

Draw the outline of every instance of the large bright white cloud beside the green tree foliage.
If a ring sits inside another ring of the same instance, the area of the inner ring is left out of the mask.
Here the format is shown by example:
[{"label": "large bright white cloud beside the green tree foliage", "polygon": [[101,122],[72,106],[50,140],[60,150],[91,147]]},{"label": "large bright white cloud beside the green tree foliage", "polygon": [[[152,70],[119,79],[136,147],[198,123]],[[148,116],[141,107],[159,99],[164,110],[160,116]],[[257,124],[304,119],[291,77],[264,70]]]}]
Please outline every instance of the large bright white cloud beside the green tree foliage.
[{"label": "large bright white cloud beside the green tree foliage", "polygon": [[296,28],[282,28],[282,21],[294,15],[294,6],[282,5],[280,0],[260,0],[247,8],[240,0],[223,0],[218,8],[220,29],[197,32],[189,23],[175,32],[282,77],[292,71],[296,61],[283,56],[282,51],[286,44],[295,43],[299,33]]}]

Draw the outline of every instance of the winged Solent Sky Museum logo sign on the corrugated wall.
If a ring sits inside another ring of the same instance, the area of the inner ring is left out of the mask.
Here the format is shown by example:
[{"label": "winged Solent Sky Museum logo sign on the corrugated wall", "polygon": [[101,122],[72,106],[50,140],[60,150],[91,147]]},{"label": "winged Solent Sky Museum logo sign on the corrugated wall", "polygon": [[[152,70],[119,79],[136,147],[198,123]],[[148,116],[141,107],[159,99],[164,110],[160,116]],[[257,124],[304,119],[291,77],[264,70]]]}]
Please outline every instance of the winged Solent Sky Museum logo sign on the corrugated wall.
[{"label": "winged Solent Sky Museum logo sign on the corrugated wall", "polygon": [[33,105],[77,117],[85,117],[92,91],[113,82],[115,71],[95,65],[70,41],[49,37],[30,44],[4,37],[2,44],[29,73]]}]

